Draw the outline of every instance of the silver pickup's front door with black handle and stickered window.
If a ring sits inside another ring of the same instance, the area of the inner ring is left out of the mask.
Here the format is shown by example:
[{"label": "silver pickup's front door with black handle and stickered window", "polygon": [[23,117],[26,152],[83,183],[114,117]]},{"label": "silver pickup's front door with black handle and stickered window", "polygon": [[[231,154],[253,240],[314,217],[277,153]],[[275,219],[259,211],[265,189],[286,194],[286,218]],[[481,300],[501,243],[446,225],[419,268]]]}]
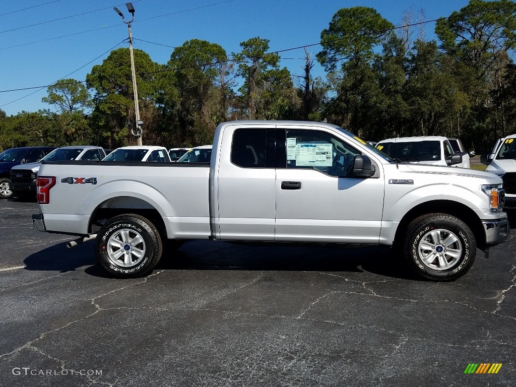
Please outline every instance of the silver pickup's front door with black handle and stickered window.
[{"label": "silver pickup's front door with black handle and stickered window", "polygon": [[281,131],[281,147],[286,148],[276,171],[275,240],[378,243],[384,195],[381,165],[375,163],[372,178],[354,178],[353,159],[361,152],[352,143],[323,131]]}]

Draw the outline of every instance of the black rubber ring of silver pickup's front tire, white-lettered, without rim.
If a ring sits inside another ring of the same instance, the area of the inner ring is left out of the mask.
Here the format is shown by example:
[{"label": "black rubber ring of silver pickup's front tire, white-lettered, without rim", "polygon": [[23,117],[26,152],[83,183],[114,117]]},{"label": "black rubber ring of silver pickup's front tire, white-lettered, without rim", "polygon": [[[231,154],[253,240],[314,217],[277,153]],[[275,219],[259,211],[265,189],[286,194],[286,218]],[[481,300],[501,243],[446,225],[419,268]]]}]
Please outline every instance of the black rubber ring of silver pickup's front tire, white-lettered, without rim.
[{"label": "black rubber ring of silver pickup's front tire, white-lettered, without rim", "polygon": [[[414,269],[422,273],[427,278],[433,279],[455,279],[462,276],[467,269],[473,264],[476,253],[476,245],[472,232],[467,228],[463,227],[460,223],[444,219],[433,219],[426,221],[425,224],[420,225],[415,232],[412,232],[408,239],[408,251],[406,249],[407,259],[411,263]],[[456,224],[458,223],[458,224]],[[464,224],[465,226],[465,224]],[[447,270],[436,270],[428,267],[421,262],[418,253],[418,244],[421,238],[431,231],[432,229],[442,229],[454,233],[462,247],[462,254],[459,261]]]}]

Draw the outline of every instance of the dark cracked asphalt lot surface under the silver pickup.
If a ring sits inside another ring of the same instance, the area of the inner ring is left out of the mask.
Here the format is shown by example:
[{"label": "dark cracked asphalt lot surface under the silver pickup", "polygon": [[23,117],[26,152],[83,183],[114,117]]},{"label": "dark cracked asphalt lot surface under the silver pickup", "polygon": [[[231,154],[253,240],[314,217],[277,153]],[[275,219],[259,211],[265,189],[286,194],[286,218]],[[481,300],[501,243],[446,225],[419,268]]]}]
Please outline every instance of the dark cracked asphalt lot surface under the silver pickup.
[{"label": "dark cracked asphalt lot surface under the silver pickup", "polygon": [[386,248],[215,241],[117,280],[93,241],[33,230],[37,212],[0,201],[0,385],[516,384],[516,213],[489,260],[434,283]]}]

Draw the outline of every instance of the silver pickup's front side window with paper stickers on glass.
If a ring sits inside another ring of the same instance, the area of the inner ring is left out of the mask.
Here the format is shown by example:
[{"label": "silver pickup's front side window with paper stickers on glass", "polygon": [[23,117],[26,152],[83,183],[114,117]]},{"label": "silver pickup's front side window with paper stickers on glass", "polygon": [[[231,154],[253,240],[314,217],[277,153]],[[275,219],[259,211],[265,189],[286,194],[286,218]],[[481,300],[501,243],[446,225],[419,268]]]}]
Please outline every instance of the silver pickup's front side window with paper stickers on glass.
[{"label": "silver pickup's front side window with paper stickers on glass", "polygon": [[330,176],[350,177],[354,157],[359,154],[357,149],[325,132],[287,131],[287,169],[317,169]]}]

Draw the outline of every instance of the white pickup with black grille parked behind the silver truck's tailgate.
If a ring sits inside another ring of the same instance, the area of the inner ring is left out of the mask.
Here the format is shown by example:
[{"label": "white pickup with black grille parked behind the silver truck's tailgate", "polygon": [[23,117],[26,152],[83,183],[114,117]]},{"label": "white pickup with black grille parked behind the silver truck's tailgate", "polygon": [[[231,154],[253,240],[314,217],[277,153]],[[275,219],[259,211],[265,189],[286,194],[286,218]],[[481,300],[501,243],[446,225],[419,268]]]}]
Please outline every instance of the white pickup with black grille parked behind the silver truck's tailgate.
[{"label": "white pickup with black grille parked behind the silver truck's tailgate", "polygon": [[41,163],[44,161],[92,160],[100,161],[106,154],[101,147],[89,145],[61,147],[43,157],[36,163],[17,165],[11,169],[11,190],[13,196],[36,196],[36,181]]}]

